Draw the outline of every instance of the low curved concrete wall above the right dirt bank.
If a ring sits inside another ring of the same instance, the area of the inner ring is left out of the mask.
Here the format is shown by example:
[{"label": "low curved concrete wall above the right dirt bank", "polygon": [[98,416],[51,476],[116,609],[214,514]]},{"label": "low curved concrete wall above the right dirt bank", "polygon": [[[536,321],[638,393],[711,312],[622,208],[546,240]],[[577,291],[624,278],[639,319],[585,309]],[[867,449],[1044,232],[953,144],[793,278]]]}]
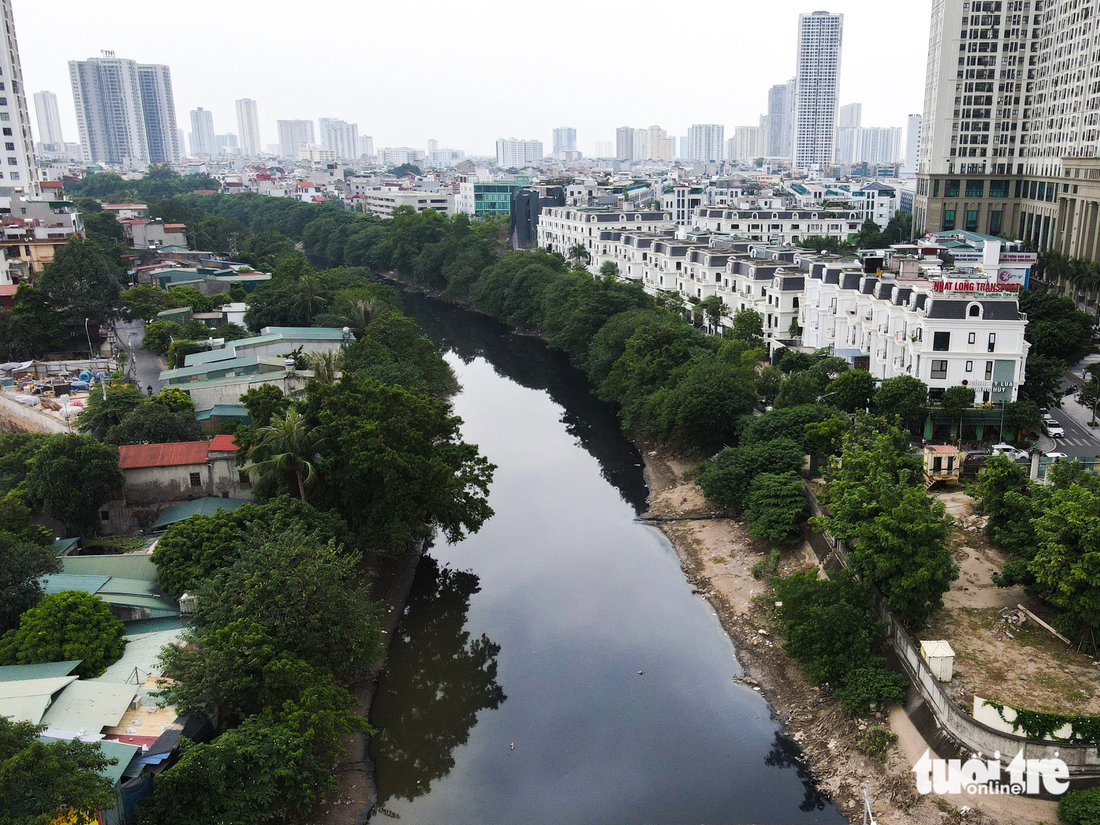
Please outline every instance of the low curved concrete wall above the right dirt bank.
[{"label": "low curved concrete wall above the right dirt bank", "polygon": [[[809,487],[806,487],[806,499],[813,515],[824,515]],[[837,561],[847,568],[848,552],[844,544],[827,532],[822,535],[833,549]],[[944,690],[921,657],[917,645],[901,626],[898,617],[882,603],[882,595],[878,590],[873,591],[873,607],[879,617],[887,623],[888,638],[893,645],[905,675],[924,698],[943,733],[963,751],[978,752],[987,757],[1000,752],[1005,758],[1012,758],[1023,749],[1025,759],[1062,759],[1069,768],[1070,778],[1075,780],[1100,778],[1100,755],[1096,745],[1060,739],[1028,739],[1026,736],[997,730],[975,719]]]}]

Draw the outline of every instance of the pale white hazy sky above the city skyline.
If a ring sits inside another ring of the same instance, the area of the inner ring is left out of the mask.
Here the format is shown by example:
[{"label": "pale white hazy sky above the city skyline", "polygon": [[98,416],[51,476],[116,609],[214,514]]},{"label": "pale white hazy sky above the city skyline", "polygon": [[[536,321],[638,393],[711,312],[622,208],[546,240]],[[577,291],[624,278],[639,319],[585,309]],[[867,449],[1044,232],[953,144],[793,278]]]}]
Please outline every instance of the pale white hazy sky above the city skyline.
[{"label": "pale white hazy sky above the city skyline", "polygon": [[[570,125],[579,148],[615,128],[756,125],[768,88],[794,75],[793,0],[691,3],[554,0],[13,0],[28,102],[57,95],[77,141],[70,59],[113,50],[172,68],[176,117],[213,112],[238,133],[233,101],[258,103],[261,140],[279,119],[342,118],[375,147],[440,146],[492,154],[502,136],[539,139]],[[831,0],[844,13],[840,103],[864,125],[905,125],[924,105],[932,0]],[[32,128],[37,127],[32,112]],[[320,135],[318,134],[318,140]]]}]

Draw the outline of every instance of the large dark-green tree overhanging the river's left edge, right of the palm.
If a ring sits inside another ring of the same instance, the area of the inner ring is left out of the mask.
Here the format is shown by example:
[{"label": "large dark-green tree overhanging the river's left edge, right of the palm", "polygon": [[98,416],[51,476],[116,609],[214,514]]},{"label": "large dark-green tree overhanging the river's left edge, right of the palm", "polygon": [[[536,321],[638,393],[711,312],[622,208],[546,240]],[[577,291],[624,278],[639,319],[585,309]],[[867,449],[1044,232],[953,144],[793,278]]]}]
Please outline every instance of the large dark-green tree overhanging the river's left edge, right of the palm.
[{"label": "large dark-green tree overhanging the river's left edge, right of the palm", "polygon": [[331,386],[311,383],[302,413],[324,435],[316,499],[367,546],[402,550],[433,525],[458,541],[493,515],[495,468],[461,440],[447,403],[345,374]]}]

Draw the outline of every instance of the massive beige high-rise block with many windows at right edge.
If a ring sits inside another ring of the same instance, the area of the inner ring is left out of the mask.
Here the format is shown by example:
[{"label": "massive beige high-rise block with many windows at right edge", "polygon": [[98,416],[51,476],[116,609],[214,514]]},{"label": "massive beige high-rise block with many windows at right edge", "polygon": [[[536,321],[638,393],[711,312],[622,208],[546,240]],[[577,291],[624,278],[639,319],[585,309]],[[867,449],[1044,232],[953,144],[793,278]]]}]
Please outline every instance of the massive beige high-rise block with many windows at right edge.
[{"label": "massive beige high-rise block with many windows at right edge", "polygon": [[914,231],[1100,261],[1097,0],[935,0]]}]

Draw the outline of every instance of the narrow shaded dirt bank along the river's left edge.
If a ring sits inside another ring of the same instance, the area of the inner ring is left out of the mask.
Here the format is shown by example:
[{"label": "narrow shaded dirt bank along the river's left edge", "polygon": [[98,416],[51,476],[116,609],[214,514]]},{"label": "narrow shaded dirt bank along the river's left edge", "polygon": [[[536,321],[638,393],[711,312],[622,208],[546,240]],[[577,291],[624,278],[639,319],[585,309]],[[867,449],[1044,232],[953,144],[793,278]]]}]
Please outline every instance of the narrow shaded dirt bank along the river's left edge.
[{"label": "narrow shaded dirt bank along the river's left edge", "polygon": [[[371,585],[372,595],[382,602],[380,625],[385,646],[382,658],[370,675],[349,689],[355,700],[355,714],[367,721],[371,718],[378,675],[386,667],[394,631],[413,590],[417,563],[424,550],[425,546],[418,544],[398,559],[373,559],[370,563],[364,561],[360,565],[363,582]],[[378,800],[374,763],[370,754],[370,735],[349,734],[342,744],[344,756],[333,769],[338,788],[318,804],[314,812],[315,825],[360,825],[367,822],[371,809]]]}]

